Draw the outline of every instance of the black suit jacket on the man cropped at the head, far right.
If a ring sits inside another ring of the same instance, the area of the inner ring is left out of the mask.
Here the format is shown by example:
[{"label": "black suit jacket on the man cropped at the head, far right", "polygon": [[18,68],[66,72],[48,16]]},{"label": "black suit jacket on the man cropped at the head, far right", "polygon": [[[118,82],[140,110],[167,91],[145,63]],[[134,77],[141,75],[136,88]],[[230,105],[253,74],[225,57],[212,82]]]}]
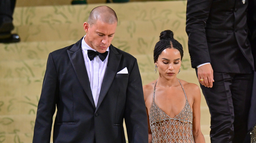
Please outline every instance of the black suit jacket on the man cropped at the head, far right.
[{"label": "black suit jacket on the man cropped at the head, far right", "polygon": [[211,63],[213,71],[251,73],[248,0],[187,0],[186,32],[192,68]]}]

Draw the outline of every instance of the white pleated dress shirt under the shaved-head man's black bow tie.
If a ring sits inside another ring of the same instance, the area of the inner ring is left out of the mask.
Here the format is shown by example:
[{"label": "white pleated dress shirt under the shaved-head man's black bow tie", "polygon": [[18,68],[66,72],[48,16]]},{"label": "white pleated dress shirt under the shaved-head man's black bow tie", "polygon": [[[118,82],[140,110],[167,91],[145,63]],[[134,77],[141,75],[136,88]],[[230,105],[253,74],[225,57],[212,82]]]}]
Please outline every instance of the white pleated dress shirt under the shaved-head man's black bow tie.
[{"label": "white pleated dress shirt under the shaved-head man's black bow tie", "polygon": [[[93,51],[96,51],[96,50],[91,48],[84,41],[85,36],[82,40],[82,51],[83,51],[86,70],[87,70],[89,81],[90,81],[92,94],[93,94],[93,100],[95,103],[95,107],[97,107],[101,84],[102,84],[103,77],[104,77],[104,74],[105,74],[105,71],[107,68],[109,52],[108,52],[108,56],[106,57],[106,59],[103,62],[99,59],[99,56],[95,56],[95,58],[92,61],[90,61],[90,59],[87,55],[87,50],[93,50]],[[108,47],[107,51],[109,51],[109,47]]]}]

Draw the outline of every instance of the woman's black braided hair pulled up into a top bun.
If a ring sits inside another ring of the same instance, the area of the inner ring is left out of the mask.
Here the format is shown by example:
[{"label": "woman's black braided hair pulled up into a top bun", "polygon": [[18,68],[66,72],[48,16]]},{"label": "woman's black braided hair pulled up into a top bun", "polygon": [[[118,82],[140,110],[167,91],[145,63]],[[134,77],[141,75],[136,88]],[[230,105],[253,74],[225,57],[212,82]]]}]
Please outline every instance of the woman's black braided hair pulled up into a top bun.
[{"label": "woman's black braided hair pulled up into a top bun", "polygon": [[173,38],[173,32],[171,30],[164,30],[160,33],[160,40],[156,43],[154,49],[154,62],[158,60],[159,55],[162,53],[163,50],[167,48],[174,48],[180,51],[181,53],[181,60],[183,57],[183,48],[181,43]]}]

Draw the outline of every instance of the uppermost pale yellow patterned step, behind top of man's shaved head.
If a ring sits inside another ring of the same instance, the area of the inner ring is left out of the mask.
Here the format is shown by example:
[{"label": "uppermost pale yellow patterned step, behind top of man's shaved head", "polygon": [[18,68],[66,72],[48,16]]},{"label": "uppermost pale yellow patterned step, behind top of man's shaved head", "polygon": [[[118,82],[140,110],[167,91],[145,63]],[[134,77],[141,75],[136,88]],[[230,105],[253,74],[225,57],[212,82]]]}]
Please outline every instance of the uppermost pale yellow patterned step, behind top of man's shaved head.
[{"label": "uppermost pale yellow patterned step, behind top of man's shaved head", "polygon": [[[87,21],[91,10],[100,5],[102,4],[16,7],[13,22],[15,25],[83,24]],[[106,3],[104,5],[116,11],[119,22],[161,21],[164,19],[166,21],[163,22],[168,22],[173,20],[173,17],[183,21],[186,17],[186,1]]]}]

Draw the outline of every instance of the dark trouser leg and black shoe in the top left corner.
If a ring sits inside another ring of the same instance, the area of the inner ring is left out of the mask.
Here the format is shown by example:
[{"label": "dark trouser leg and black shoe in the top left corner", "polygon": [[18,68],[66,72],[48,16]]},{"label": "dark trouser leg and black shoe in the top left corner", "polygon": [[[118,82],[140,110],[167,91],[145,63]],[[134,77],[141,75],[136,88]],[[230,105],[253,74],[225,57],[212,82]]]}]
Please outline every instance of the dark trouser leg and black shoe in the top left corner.
[{"label": "dark trouser leg and black shoe in the top left corner", "polygon": [[17,34],[11,34],[14,26],[12,24],[12,15],[16,0],[0,1],[0,43],[19,42]]}]

